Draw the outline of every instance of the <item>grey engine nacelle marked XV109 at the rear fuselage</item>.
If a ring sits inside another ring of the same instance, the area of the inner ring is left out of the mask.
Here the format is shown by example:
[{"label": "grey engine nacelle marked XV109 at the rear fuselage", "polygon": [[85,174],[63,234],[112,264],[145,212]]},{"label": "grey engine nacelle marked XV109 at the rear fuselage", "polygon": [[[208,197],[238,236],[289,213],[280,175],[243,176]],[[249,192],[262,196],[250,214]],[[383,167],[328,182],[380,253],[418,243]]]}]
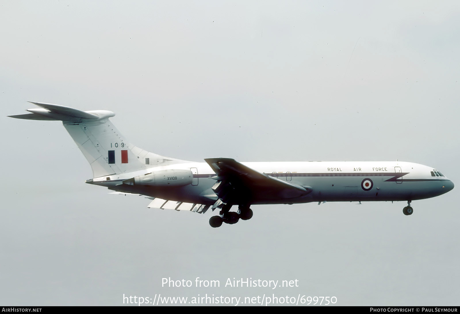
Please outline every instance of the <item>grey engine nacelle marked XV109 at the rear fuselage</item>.
[{"label": "grey engine nacelle marked XV109 at the rear fuselage", "polygon": [[184,186],[192,183],[193,174],[190,170],[168,169],[155,171],[150,174],[124,180],[129,185],[150,185],[150,186]]}]

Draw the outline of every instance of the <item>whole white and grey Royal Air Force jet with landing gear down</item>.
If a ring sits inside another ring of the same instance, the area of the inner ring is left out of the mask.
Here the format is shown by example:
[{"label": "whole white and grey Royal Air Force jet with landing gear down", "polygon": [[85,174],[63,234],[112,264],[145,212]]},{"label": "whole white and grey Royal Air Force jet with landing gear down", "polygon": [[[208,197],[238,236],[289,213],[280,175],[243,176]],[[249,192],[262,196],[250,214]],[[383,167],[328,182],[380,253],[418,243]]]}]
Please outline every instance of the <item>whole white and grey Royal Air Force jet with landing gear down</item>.
[{"label": "whole white and grey Royal Air Force jet with landing gear down", "polygon": [[[144,195],[148,207],[205,213],[212,227],[253,216],[253,204],[407,201],[454,188],[437,169],[407,162],[257,162],[208,158],[196,163],[144,151],[128,142],[109,120],[114,112],[32,102],[41,107],[11,118],[60,120],[91,165],[86,183],[116,194]],[[230,212],[233,205],[236,212]]]}]

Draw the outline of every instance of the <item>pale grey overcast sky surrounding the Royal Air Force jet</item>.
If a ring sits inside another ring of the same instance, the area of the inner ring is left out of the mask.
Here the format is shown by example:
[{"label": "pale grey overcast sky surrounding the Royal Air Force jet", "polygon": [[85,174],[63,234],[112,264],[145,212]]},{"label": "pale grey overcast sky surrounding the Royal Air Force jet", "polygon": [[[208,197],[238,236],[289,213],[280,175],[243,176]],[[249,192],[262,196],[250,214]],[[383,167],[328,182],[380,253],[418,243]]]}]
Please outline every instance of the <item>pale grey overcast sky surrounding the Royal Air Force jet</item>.
[{"label": "pale grey overcast sky surrounding the Royal Air Force jet", "polygon": [[[457,188],[403,202],[148,209],[86,185],[40,101],[114,111],[137,146],[202,161],[400,160],[458,167],[458,1],[2,1],[0,304],[142,297],[335,296],[337,305],[458,305]],[[220,280],[161,287],[161,278]],[[227,278],[299,280],[230,288]]]}]

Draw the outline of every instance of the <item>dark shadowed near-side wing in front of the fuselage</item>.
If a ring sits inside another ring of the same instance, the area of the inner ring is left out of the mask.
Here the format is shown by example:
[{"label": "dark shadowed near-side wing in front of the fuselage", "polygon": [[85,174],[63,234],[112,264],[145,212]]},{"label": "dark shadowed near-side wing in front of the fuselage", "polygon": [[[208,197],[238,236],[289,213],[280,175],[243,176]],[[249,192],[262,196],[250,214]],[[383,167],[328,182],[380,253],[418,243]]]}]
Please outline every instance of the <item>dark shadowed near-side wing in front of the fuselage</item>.
[{"label": "dark shadowed near-side wing in front of the fuselage", "polygon": [[208,158],[205,161],[217,174],[213,191],[220,203],[250,204],[280,202],[304,196],[312,191],[309,186],[295,185],[260,173],[231,158]]}]

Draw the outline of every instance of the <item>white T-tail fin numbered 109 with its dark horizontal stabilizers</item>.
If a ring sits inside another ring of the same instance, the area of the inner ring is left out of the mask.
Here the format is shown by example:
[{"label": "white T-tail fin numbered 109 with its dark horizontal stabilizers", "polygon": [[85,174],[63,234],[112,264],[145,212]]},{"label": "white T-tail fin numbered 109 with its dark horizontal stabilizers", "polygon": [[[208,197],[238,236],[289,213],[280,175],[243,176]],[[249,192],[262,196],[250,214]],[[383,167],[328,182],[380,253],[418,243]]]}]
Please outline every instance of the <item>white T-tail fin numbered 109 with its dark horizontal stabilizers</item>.
[{"label": "white T-tail fin numbered 109 with its dark horizontal stabilizers", "polygon": [[64,128],[91,165],[93,178],[123,174],[155,166],[184,163],[132,145],[109,120],[115,113],[107,110],[81,111],[75,108],[32,102],[41,107],[11,118],[63,121]]}]

